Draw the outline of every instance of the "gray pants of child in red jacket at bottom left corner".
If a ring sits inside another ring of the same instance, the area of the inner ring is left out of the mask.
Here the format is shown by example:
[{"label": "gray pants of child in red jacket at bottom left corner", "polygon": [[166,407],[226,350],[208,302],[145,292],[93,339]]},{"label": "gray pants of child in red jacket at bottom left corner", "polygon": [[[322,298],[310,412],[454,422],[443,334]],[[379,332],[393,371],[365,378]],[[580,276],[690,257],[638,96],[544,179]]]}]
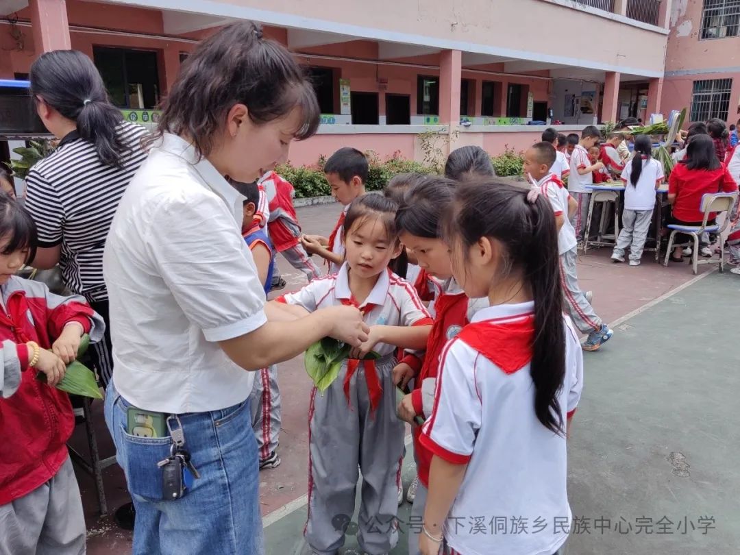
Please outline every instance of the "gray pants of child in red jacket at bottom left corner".
[{"label": "gray pants of child in red jacket at bottom left corner", "polygon": [[72,460],[30,494],[0,505],[0,555],[81,555],[85,517]]}]

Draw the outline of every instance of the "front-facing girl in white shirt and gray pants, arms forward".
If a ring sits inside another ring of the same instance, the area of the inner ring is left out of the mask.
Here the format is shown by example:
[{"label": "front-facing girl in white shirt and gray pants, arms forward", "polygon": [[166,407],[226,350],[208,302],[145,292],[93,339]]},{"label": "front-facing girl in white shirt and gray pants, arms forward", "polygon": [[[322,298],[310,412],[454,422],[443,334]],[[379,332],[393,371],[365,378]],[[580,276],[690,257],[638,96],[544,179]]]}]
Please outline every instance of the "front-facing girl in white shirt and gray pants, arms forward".
[{"label": "front-facing girl in white shirt and gray pants, arms forward", "polygon": [[[339,272],[314,280],[274,303],[297,314],[324,306],[357,306],[370,337],[342,361],[326,391],[313,388],[309,406],[309,516],[304,535],[315,554],[335,554],[345,529],[337,515],[354,514],[358,468],[360,551],[383,554],[398,542],[396,518],[404,423],[396,417],[393,369],[398,348],[423,349],[431,317],[411,284],[388,269],[402,246],[397,205],[381,195],[362,195],[349,205]],[[370,351],[377,360],[363,360]],[[386,523],[384,525],[382,523]]]}]

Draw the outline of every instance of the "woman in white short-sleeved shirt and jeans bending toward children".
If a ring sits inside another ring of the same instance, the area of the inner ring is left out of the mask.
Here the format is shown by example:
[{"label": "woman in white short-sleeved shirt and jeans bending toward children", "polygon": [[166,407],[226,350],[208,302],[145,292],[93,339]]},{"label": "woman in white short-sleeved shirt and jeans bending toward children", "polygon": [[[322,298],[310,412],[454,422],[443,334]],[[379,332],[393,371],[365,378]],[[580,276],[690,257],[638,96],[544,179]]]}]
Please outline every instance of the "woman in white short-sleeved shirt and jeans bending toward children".
[{"label": "woman in white short-sleeved shirt and jeans bending toward children", "polygon": [[326,335],[367,339],[352,307],[297,319],[265,305],[240,235],[243,197],[224,178],[254,181],[318,121],[287,50],[256,24],[231,24],[183,64],[121,200],[104,254],[105,416],[136,508],[134,554],[263,553],[252,370]]}]

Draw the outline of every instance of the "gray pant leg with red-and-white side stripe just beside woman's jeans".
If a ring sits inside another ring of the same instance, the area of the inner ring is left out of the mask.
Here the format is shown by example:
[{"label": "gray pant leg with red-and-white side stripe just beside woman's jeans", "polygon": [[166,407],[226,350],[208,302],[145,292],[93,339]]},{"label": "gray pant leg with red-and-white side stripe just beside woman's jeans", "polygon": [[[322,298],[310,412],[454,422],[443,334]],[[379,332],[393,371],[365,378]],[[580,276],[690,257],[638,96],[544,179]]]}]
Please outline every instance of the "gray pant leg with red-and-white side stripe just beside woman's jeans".
[{"label": "gray pant leg with red-and-white side stripe just beside woman's jeans", "polygon": [[277,449],[280,439],[280,388],[277,386],[276,364],[255,372],[251,397],[252,429],[260,460],[265,460]]}]

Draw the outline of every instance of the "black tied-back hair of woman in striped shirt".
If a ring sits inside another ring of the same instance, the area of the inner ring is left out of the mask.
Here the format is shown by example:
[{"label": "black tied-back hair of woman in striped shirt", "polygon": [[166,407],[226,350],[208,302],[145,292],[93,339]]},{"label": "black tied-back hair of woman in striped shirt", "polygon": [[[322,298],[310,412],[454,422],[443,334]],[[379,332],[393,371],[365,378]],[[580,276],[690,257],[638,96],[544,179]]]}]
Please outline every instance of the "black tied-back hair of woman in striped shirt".
[{"label": "black tied-back hair of woman in striped shirt", "polygon": [[103,79],[87,55],[77,50],[47,52],[33,62],[29,79],[31,94],[74,121],[103,164],[120,166],[128,148],[118,136],[124,115],[110,104]]}]

